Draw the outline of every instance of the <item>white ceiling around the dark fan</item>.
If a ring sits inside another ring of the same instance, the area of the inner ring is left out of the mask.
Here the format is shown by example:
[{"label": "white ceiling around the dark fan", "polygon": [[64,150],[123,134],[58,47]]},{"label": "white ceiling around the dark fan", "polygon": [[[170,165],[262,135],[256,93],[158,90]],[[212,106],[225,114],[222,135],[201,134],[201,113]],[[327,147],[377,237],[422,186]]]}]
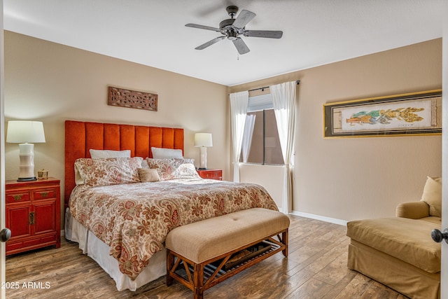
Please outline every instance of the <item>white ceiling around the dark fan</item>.
[{"label": "white ceiling around the dark fan", "polygon": [[[12,32],[174,71],[223,85],[307,69],[442,37],[444,0],[4,0]],[[236,5],[256,13],[248,30],[282,30],[281,39],[243,37],[204,50]]]}]

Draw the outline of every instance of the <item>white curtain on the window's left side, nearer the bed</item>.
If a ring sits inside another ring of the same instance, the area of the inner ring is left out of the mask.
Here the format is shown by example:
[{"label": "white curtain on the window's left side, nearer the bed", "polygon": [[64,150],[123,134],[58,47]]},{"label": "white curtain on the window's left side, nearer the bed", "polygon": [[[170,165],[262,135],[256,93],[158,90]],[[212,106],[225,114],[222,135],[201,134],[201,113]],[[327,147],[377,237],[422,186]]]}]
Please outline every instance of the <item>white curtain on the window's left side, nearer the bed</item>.
[{"label": "white curtain on the window's left side, nearer the bed", "polygon": [[241,146],[243,144],[248,100],[248,91],[230,94],[230,117],[232,120],[233,144],[233,181],[235,182],[239,182],[239,156],[241,155]]}]

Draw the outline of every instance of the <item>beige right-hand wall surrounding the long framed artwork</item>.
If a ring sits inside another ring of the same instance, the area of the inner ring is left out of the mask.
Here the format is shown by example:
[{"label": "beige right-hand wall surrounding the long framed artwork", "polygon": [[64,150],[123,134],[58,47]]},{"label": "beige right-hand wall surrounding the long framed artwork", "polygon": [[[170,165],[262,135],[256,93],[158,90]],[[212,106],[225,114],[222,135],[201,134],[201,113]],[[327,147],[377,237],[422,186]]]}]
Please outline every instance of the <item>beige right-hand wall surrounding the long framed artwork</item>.
[{"label": "beige right-hand wall surrounding the long framed artwork", "polygon": [[[300,59],[300,57],[297,57]],[[323,139],[322,105],[442,88],[442,40],[296,71],[229,88],[297,86],[293,211],[349,221],[394,216],[442,171],[441,137]]]}]

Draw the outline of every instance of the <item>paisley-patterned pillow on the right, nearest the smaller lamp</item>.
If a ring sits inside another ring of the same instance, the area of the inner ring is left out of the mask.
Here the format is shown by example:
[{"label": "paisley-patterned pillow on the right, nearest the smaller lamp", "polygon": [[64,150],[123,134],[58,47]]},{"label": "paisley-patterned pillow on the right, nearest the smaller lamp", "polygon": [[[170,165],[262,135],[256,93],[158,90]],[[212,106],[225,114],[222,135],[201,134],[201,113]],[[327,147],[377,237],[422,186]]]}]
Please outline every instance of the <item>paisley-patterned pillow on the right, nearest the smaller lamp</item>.
[{"label": "paisley-patterned pillow on the right, nearest the smaller lamp", "polygon": [[151,169],[157,169],[162,181],[170,179],[196,179],[199,174],[195,169],[194,159],[151,159],[146,158]]}]

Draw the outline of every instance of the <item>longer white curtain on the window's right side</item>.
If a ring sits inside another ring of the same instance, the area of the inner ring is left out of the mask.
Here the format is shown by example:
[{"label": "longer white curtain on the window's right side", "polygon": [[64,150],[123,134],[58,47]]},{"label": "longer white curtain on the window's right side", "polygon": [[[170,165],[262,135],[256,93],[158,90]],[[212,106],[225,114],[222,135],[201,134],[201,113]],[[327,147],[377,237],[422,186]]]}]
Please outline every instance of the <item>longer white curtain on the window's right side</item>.
[{"label": "longer white curtain on the window's right side", "polygon": [[297,82],[286,82],[269,86],[272,95],[272,104],[279,130],[281,153],[285,162],[285,172],[283,174],[283,198],[281,200],[281,210],[288,214],[291,212],[293,203],[292,194],[292,159],[294,151],[294,128],[295,128],[295,87]]}]

